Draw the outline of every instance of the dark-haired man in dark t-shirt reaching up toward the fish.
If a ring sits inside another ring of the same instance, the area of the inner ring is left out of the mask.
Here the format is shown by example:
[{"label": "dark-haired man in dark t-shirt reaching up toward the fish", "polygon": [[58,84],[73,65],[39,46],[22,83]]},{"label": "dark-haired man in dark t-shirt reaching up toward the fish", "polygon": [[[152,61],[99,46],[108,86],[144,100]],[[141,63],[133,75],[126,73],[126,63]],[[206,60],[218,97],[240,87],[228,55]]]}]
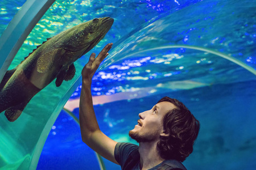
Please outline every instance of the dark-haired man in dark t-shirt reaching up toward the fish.
[{"label": "dark-haired man in dark t-shirt reaching up toward the fish", "polygon": [[200,125],[176,99],[164,97],[149,111],[139,113],[138,125],[129,132],[139,146],[117,143],[100,130],[93,109],[91,84],[112,45],[106,45],[97,58],[92,53],[82,69],[79,107],[82,141],[122,169],[186,169],[181,162],[193,151]]}]

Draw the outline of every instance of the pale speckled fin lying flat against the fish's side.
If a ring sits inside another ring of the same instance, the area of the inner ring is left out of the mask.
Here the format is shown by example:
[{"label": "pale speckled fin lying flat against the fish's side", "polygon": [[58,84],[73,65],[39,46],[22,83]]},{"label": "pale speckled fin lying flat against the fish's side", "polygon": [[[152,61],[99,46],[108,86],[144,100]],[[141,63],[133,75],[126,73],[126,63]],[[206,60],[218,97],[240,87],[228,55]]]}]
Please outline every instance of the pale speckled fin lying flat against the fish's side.
[{"label": "pale speckled fin lying flat against the fish's side", "polygon": [[37,71],[39,73],[46,73],[51,67],[53,66],[54,63],[54,58],[57,55],[58,50],[53,50],[51,52],[43,53],[39,58],[38,62],[36,63],[38,69]]}]

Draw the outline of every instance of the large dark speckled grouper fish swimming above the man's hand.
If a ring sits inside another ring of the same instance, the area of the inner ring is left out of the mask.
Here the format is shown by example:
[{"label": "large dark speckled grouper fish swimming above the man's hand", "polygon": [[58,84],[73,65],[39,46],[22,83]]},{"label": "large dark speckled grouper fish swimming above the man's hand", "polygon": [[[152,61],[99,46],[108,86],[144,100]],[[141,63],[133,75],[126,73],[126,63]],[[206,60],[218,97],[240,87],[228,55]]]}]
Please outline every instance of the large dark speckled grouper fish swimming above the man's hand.
[{"label": "large dark speckled grouper fish swimming above the man's hand", "polygon": [[27,103],[56,78],[63,80],[75,75],[73,62],[89,52],[112,27],[113,18],[95,18],[76,25],[47,39],[37,46],[13,70],[6,72],[0,84],[0,113],[5,111],[9,121],[15,121]]}]

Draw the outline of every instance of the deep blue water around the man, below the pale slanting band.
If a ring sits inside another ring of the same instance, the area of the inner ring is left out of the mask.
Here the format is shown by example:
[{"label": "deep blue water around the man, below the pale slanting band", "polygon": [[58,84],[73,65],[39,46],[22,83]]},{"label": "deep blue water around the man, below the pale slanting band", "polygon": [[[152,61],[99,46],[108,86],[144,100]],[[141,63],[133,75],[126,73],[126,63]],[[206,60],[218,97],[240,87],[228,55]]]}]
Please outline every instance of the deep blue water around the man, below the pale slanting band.
[{"label": "deep blue water around the man, below the pale slanting band", "polygon": [[[128,136],[138,113],[149,109],[164,95],[175,97],[183,101],[201,122],[194,151],[184,162],[188,169],[254,169],[255,83],[254,80],[169,92],[96,105],[94,109],[102,131],[118,139],[121,135]],[[108,117],[104,116],[106,112],[109,112]],[[78,116],[79,109],[73,113]],[[113,126],[109,126],[108,120]],[[95,159],[93,163],[92,157],[88,156],[93,153],[82,143],[79,126],[65,112],[60,113],[54,126],[56,129],[49,133],[38,169],[52,168],[56,164],[58,169],[100,169]],[[92,163],[95,164],[93,168]],[[108,161],[105,164],[107,169],[120,169]]]}]

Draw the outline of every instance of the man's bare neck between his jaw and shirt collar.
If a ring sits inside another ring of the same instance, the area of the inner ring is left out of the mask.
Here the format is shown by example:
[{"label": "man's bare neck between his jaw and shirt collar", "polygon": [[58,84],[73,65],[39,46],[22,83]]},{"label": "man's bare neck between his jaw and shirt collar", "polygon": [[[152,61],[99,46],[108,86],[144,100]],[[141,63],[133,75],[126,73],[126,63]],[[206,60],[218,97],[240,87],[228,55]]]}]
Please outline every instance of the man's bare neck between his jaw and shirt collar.
[{"label": "man's bare neck between his jaw and shirt collar", "polygon": [[162,163],[164,159],[159,155],[156,142],[139,143],[140,169],[150,169]]}]

